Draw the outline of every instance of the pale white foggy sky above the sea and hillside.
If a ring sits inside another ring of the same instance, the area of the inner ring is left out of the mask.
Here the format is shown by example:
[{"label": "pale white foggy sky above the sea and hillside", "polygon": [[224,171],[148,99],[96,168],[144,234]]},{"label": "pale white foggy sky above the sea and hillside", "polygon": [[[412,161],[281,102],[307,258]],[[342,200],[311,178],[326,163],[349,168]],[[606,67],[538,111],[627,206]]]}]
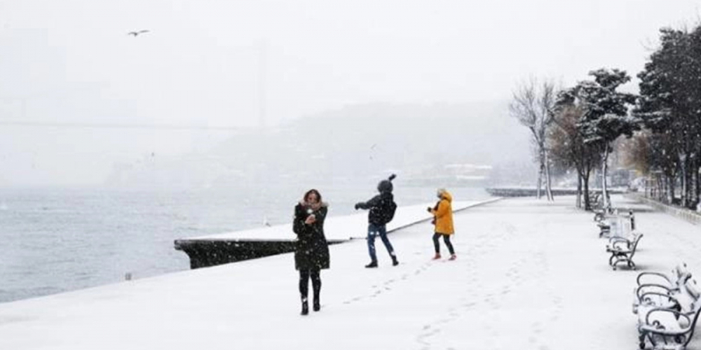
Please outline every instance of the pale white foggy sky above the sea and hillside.
[{"label": "pale white foggy sky above the sea and hillside", "polygon": [[571,85],[601,66],[634,76],[660,27],[697,14],[681,0],[0,0],[0,186],[100,183],[115,163],[230,136],[91,125],[271,126],[508,100],[529,76]]}]

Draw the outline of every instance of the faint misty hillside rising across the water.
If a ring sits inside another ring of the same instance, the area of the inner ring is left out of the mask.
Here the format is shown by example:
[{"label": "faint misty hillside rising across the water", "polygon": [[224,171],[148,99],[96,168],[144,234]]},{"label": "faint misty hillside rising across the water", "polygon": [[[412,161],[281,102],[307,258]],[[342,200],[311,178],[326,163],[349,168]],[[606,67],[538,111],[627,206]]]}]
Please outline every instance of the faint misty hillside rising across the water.
[{"label": "faint misty hillside rising across the water", "polygon": [[479,177],[489,175],[484,166],[511,169],[529,159],[527,130],[502,103],[363,104],[264,132],[238,132],[206,155],[122,169],[111,179],[206,186],[307,176],[339,181],[388,172],[420,179],[439,176],[450,165],[483,166]]}]

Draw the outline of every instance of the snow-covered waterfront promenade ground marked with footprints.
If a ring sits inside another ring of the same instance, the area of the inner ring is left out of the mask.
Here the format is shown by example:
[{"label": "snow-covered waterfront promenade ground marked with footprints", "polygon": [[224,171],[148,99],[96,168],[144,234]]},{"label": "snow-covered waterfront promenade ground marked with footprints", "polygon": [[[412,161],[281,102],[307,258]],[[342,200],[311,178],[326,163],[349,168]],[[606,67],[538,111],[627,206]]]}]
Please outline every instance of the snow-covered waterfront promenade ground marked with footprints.
[{"label": "snow-covered waterfront promenade ground marked with footprints", "polygon": [[[462,211],[455,261],[430,260],[429,223],[390,235],[397,267],[379,241],[378,269],[363,268],[365,241],[331,246],[322,309],[308,316],[284,254],[0,304],[0,349],[637,349],[637,272],[608,267],[606,241],[573,202]],[[636,218],[639,270],[686,261],[701,274],[700,227]]]}]

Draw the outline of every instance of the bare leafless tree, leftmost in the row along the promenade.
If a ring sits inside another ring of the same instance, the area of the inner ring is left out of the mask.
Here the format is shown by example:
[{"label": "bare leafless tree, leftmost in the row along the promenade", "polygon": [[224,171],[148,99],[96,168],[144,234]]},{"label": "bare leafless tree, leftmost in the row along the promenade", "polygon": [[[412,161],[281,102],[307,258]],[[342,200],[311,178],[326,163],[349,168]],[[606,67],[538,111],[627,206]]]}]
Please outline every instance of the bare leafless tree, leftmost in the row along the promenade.
[{"label": "bare leafless tree, leftmost in the row along the promenade", "polygon": [[531,78],[528,82],[517,86],[509,104],[511,116],[531,130],[531,141],[536,148],[536,159],[538,159],[538,199],[540,199],[541,185],[545,180],[547,199],[553,200],[546,138],[547,130],[553,120],[555,97],[552,81],[545,80],[540,83],[536,78]]}]

